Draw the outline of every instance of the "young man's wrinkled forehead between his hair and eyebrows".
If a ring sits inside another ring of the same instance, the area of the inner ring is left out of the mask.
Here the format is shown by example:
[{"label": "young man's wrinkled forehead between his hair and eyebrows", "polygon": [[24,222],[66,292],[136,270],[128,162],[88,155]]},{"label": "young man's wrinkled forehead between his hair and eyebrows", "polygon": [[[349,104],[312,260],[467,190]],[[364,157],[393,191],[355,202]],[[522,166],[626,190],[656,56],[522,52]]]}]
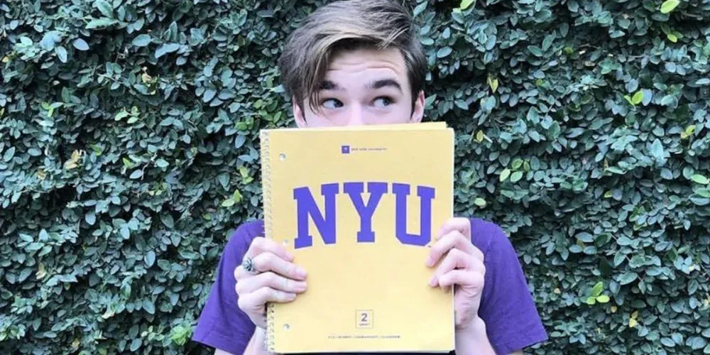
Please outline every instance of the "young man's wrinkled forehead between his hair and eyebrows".
[{"label": "young man's wrinkled forehead between his hair and eyebrows", "polygon": [[334,53],[324,81],[339,85],[364,84],[372,80],[396,80],[403,89],[409,87],[407,65],[397,49],[358,49]]}]

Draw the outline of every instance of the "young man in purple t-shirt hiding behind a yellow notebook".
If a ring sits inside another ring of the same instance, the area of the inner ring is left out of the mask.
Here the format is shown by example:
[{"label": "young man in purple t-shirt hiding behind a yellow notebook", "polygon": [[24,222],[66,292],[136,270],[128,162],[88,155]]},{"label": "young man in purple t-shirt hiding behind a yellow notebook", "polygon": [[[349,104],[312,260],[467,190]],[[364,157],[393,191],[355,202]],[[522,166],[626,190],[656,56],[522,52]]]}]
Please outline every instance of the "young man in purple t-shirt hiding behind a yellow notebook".
[{"label": "young man in purple t-shirt hiding behind a yellow notebook", "polygon": [[[412,18],[395,1],[334,2],[289,38],[280,70],[297,126],[416,124],[424,114],[425,55]],[[307,271],[263,237],[263,222],[239,226],[193,339],[217,354],[267,354],[266,302],[290,302],[307,289]],[[455,285],[456,354],[522,354],[547,340],[501,228],[449,219],[432,246],[430,286]]]}]

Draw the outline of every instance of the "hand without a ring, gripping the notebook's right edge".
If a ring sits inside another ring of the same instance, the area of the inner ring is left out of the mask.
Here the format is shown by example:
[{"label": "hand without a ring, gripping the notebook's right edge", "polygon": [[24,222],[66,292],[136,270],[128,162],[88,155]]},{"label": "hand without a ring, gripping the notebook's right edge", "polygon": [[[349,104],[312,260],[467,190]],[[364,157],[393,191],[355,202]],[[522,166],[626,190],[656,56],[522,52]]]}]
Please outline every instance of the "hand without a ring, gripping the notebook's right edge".
[{"label": "hand without a ring, gripping the notebook's right edge", "polygon": [[[442,259],[443,257],[443,259]],[[481,293],[484,289],[484,254],[471,244],[471,222],[452,218],[445,222],[429,253],[427,266],[435,266],[429,285],[454,285],[456,329],[466,329],[478,320]]]}]

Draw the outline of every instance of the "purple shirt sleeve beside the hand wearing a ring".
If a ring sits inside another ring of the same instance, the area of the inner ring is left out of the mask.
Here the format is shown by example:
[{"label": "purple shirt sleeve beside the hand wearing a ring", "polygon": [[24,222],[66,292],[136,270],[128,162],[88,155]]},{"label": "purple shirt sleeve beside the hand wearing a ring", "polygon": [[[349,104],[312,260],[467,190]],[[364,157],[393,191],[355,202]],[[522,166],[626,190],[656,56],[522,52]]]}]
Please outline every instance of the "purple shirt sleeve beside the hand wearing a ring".
[{"label": "purple shirt sleeve beside the hand wearing a ring", "polygon": [[239,309],[234,290],[234,268],[241,263],[253,239],[249,234],[249,228],[239,226],[227,242],[219,259],[214,285],[192,336],[195,342],[230,354],[244,354],[256,328],[251,319]]}]

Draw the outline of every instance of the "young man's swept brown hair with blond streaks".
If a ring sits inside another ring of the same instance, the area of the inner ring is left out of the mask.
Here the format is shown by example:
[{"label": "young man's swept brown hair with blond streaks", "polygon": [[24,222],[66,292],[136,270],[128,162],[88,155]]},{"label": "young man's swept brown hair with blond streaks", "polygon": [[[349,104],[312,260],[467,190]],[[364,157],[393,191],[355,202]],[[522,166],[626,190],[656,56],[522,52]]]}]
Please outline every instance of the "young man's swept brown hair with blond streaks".
[{"label": "young man's swept brown hair with blond streaks", "polygon": [[285,92],[318,107],[330,59],[340,50],[397,48],[407,65],[412,98],[423,89],[426,58],[409,11],[393,0],[343,0],[311,13],[288,37],[278,60]]}]

